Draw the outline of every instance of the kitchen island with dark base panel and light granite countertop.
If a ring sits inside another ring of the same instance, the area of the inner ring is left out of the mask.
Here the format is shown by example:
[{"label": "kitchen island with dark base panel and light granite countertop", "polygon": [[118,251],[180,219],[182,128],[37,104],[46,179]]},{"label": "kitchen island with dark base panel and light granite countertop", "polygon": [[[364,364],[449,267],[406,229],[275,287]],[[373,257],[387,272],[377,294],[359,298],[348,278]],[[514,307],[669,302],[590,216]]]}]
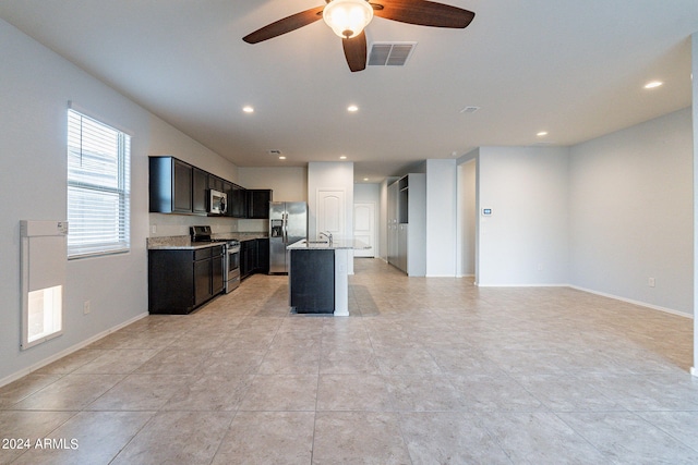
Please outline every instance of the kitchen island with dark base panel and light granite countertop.
[{"label": "kitchen island with dark base panel and light granite countertop", "polygon": [[289,305],[299,314],[349,316],[349,260],[360,248],[370,246],[353,240],[289,245]]}]

